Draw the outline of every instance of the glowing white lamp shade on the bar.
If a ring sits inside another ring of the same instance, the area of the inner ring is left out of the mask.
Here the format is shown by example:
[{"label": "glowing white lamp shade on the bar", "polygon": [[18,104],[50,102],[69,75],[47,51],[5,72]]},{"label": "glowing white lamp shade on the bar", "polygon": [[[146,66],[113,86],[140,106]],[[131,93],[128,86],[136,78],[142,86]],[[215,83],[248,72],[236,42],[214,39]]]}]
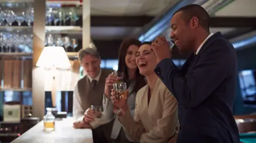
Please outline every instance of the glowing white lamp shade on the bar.
[{"label": "glowing white lamp shade on the bar", "polygon": [[39,56],[36,66],[44,68],[69,68],[71,64],[63,47],[47,46],[44,47]]}]

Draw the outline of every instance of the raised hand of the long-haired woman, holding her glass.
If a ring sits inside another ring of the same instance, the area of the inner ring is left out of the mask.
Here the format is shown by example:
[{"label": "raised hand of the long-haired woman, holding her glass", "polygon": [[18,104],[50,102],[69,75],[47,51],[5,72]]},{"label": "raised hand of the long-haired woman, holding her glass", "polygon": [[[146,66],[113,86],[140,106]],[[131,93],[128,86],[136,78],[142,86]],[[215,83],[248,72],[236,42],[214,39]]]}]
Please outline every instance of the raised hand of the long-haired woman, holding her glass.
[{"label": "raised hand of the long-haired woman, holding her glass", "polygon": [[118,78],[114,74],[109,74],[106,78],[104,94],[107,98],[109,98],[113,84],[116,83],[117,80]]}]

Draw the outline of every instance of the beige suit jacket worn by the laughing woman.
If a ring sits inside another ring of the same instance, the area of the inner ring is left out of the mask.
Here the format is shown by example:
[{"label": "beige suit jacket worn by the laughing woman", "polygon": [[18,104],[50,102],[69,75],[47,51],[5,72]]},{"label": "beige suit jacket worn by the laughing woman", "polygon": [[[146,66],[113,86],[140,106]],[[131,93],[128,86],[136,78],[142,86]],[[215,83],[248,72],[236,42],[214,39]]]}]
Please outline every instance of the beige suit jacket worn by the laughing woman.
[{"label": "beige suit jacket worn by the laughing woman", "polygon": [[[131,112],[119,116],[134,141],[140,143],[175,143],[178,122],[178,103],[171,92],[157,78],[148,104],[148,85],[137,92],[134,117]],[[176,135],[175,137],[173,137]],[[171,138],[171,139],[170,139]]]}]

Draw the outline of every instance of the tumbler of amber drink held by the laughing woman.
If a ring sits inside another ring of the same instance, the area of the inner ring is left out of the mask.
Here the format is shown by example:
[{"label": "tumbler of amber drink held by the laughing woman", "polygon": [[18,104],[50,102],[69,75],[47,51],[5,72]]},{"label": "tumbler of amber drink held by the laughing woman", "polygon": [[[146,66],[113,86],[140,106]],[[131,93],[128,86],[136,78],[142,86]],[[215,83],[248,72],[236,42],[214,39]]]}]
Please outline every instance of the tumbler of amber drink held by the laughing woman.
[{"label": "tumbler of amber drink held by the laughing woman", "polygon": [[115,98],[116,99],[127,99],[128,92],[125,82],[116,82],[113,84],[113,89],[115,90]]}]

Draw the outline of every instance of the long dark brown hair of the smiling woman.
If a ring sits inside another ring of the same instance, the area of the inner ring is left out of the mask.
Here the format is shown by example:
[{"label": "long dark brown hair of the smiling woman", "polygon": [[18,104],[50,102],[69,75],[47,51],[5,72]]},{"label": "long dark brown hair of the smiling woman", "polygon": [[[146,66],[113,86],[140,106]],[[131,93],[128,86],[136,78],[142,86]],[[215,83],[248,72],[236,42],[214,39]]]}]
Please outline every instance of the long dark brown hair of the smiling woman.
[{"label": "long dark brown hair of the smiling woman", "polygon": [[[119,53],[118,53],[118,71],[124,73],[124,81],[129,80],[129,75],[128,75],[128,68],[127,65],[125,64],[125,56],[127,53],[127,49],[131,46],[141,46],[141,42],[135,38],[127,38],[124,39],[121,43],[121,46],[119,48]],[[132,92],[135,92],[135,94],[140,90],[143,86],[146,85],[145,77],[140,74],[139,69],[137,68],[135,72],[135,83],[132,89]]]}]

